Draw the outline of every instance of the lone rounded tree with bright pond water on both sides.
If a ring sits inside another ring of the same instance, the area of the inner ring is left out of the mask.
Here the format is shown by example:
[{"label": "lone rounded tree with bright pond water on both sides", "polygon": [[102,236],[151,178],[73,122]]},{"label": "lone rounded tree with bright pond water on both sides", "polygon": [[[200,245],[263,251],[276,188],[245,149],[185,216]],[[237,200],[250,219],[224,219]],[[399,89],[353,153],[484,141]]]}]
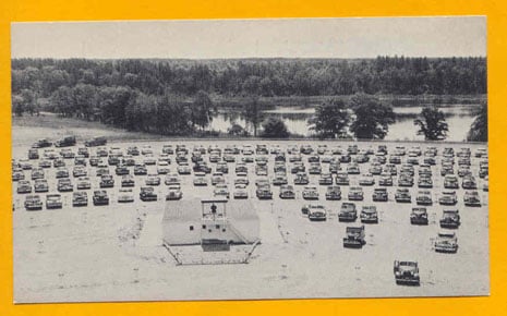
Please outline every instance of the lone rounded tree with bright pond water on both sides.
[{"label": "lone rounded tree with bright pond water on both sides", "polygon": [[424,107],[413,123],[419,126],[418,135],[424,135],[426,141],[443,141],[449,131],[444,112],[436,106]]}]

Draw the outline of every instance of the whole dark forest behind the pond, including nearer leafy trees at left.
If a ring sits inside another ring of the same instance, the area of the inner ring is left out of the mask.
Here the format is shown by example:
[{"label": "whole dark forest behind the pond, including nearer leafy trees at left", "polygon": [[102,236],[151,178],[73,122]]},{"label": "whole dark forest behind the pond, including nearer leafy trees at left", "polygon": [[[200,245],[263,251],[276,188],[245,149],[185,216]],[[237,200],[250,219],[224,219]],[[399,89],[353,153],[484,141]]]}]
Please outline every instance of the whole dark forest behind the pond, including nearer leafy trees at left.
[{"label": "whole dark forest behind the pond, including nearer leafy trees at left", "polygon": [[12,60],[16,116],[44,109],[162,134],[203,131],[217,98],[354,94],[483,95],[486,59]]}]

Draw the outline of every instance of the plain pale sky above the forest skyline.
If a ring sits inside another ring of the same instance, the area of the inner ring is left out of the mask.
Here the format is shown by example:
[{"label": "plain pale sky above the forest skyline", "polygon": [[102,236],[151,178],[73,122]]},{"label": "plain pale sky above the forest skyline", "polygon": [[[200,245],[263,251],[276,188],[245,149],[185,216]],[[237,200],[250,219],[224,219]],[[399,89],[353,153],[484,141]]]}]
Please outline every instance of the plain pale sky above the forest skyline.
[{"label": "plain pale sky above the forest skyline", "polygon": [[12,58],[485,57],[486,17],[11,24]]}]

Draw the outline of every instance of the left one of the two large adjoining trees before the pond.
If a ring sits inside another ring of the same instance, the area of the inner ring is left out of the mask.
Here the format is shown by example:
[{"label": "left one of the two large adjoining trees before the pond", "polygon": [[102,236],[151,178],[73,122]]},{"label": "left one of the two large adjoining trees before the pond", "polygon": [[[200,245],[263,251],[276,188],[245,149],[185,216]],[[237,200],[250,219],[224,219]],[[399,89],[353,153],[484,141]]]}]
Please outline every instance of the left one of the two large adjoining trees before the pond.
[{"label": "left one of the two large adjoining trees before the pond", "polygon": [[315,108],[315,116],[309,120],[310,130],[319,138],[337,138],[346,133],[350,113],[340,99],[329,99]]}]

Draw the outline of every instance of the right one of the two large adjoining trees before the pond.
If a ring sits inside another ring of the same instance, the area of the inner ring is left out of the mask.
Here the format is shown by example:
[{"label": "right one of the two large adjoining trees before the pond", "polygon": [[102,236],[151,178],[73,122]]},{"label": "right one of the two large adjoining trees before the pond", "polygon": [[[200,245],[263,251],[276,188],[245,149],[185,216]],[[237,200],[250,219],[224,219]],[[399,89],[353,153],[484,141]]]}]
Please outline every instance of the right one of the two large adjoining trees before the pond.
[{"label": "right one of the two large adjoining trees before the pond", "polygon": [[381,104],[375,97],[354,96],[351,99],[351,108],[355,119],[350,125],[350,131],[357,138],[384,139],[389,124],[395,122],[393,107]]}]

